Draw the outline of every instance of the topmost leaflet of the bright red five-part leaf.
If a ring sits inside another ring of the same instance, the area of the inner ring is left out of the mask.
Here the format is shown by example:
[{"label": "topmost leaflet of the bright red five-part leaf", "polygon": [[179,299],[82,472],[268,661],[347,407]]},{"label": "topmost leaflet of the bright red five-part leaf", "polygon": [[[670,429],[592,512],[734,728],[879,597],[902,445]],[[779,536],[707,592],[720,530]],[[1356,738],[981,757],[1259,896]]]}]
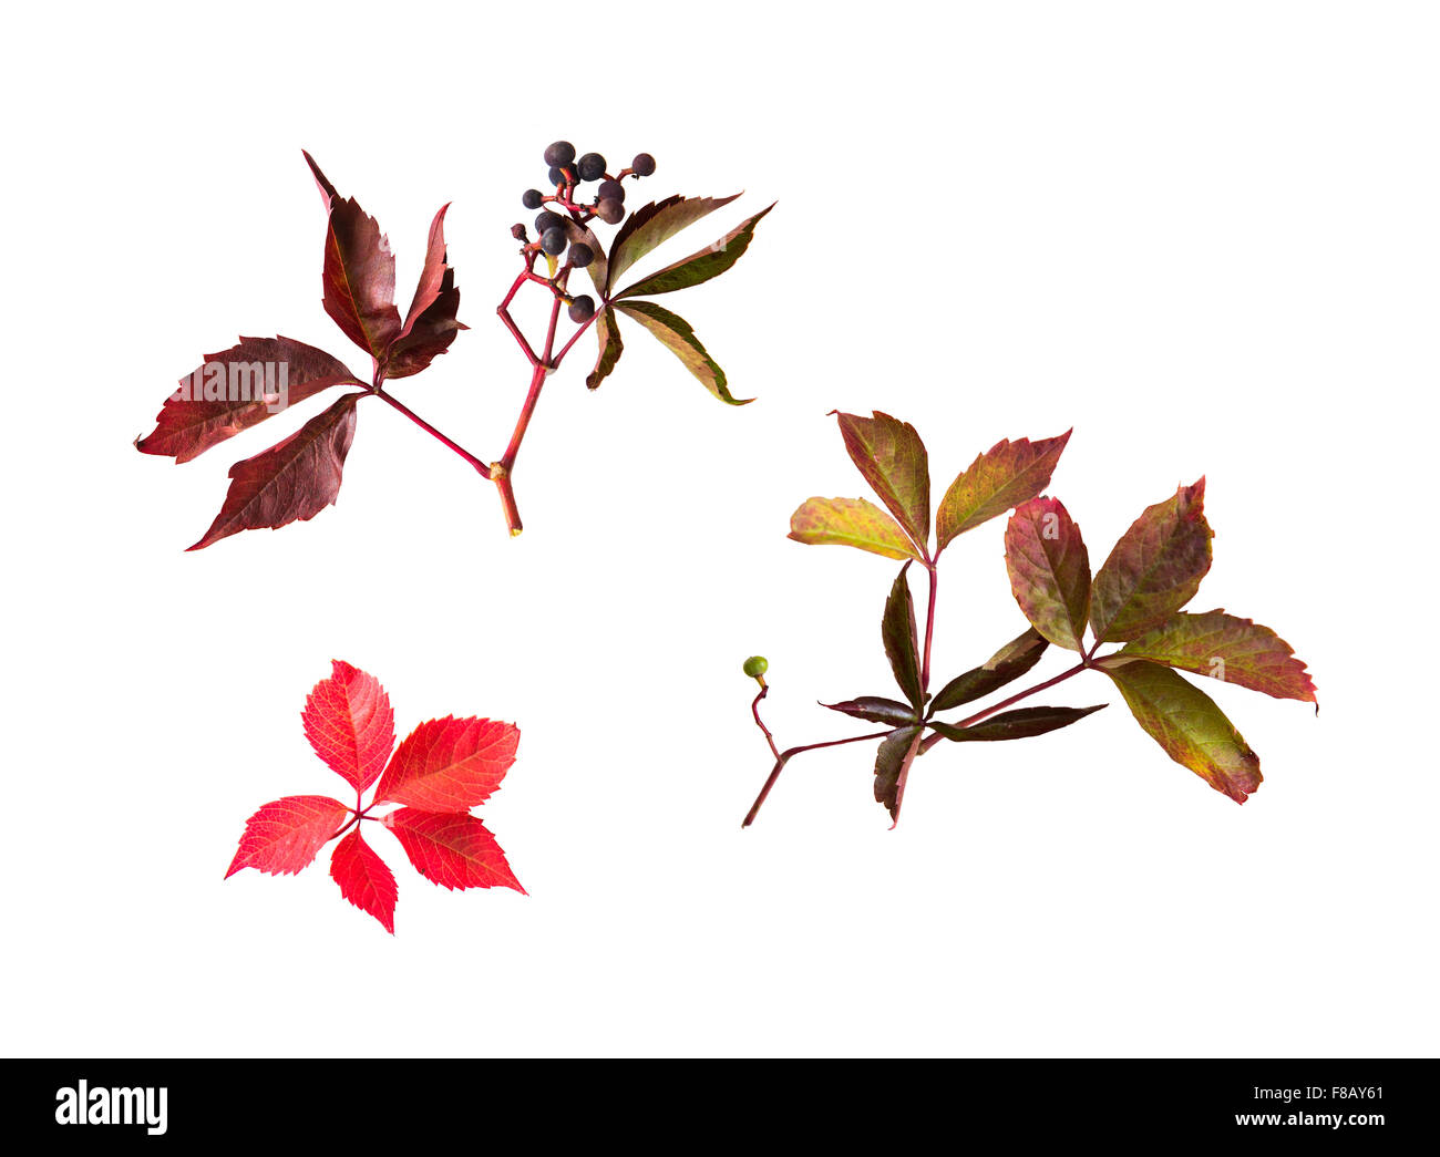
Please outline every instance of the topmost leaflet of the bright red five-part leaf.
[{"label": "topmost leaflet of the bright red five-part leaf", "polygon": [[364,791],[390,758],[395,711],[374,675],[340,659],[331,668],[305,699],[305,738],[331,771]]}]

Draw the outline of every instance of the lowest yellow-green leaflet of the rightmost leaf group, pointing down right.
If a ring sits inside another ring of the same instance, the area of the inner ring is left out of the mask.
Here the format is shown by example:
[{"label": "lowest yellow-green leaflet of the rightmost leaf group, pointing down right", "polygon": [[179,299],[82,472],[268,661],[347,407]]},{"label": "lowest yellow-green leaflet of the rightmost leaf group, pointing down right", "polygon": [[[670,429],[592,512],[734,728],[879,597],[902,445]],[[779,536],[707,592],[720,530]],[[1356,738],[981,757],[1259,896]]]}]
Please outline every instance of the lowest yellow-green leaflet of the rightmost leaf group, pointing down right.
[{"label": "lowest yellow-green leaflet of the rightmost leaf group, pointing down right", "polygon": [[1236,803],[1244,803],[1260,786],[1260,757],[1198,686],[1143,659],[1102,671],[1115,679],[1130,714],[1175,763]]}]

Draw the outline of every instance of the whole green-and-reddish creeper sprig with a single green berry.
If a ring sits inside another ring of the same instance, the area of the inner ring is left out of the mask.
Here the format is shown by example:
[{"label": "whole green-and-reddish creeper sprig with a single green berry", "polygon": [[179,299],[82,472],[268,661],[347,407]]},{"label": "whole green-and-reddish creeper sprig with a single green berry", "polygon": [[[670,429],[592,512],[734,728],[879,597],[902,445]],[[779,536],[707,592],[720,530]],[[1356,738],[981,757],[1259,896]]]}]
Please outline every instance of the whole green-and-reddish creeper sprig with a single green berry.
[{"label": "whole green-and-reddish creeper sprig with a single green berry", "polygon": [[[903,699],[864,695],[825,704],[878,731],[780,751],[760,720],[768,665],[746,663],[760,691],[750,705],[775,767],[744,817],[749,826],[785,766],[798,754],[864,740],[880,740],[874,767],[876,800],[899,820],[906,781],[916,758],[940,740],[955,743],[1020,740],[1068,727],[1094,707],[1014,707],[1041,691],[1097,671],[1119,688],[1142,728],[1176,763],[1217,791],[1244,803],[1260,786],[1260,760],[1215,702],[1178,675],[1207,675],[1263,691],[1279,699],[1316,702],[1305,663],[1269,627],[1211,610],[1184,612],[1210,570],[1212,532],[1205,521],[1205,479],[1181,486],[1146,508],[1122,535],[1099,573],[1092,574],[1080,528],[1056,498],[1041,496],[1070,432],[1038,442],[1004,440],[979,455],[950,484],[935,514],[930,545],[930,473],[924,443],[909,423],[876,412],[838,414],[851,460],[886,509],[864,498],[811,498],[791,518],[791,538],[841,544],[904,560],[886,600],[881,639]],[[1009,584],[1030,627],[979,666],[930,692],[937,563],[969,530],[1012,511],[1005,527]],[[924,633],[916,625],[909,570],[929,576]],[[1086,632],[1089,629],[1089,640]],[[1100,655],[1106,643],[1123,643]],[[973,704],[1025,675],[1051,645],[1076,652],[1074,666],[959,720],[939,718]],[[1316,708],[1318,709],[1318,708]]]}]

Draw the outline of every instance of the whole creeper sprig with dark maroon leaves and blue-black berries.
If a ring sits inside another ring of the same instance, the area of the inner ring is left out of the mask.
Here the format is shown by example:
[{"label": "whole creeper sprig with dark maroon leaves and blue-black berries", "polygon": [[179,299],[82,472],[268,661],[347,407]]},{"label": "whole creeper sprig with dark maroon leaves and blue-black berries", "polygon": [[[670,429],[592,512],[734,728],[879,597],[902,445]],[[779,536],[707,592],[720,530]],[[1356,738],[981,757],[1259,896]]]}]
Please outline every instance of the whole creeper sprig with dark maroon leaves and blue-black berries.
[{"label": "whole creeper sprig with dark maroon leaves and blue-black berries", "polygon": [[[135,442],[143,453],[170,456],[177,463],[189,462],[324,390],[344,390],[328,409],[295,433],[230,468],[225,504],[190,550],[243,530],[278,528],[310,519],[334,504],[354,439],[356,409],[364,397],[382,399],[494,482],[510,532],[520,534],[511,478],[546,377],[560,367],[564,355],[593,324],[599,355],[586,384],[596,389],[621,358],[621,315],[657,337],[720,400],[730,404],[749,400],[730,393],[724,371],[701,345],[690,322],[651,298],[700,285],[730,269],[750,245],[755,226],[773,204],[747,217],[713,245],[619,288],[622,275],[635,262],[734,197],[672,196],[626,216],[624,183],[655,171],[649,154],[636,155],[631,165],[612,177],[599,154],[588,153],[576,158],[575,147],[567,141],[552,144],[544,157],[554,191],[528,190],[521,199],[528,209],[546,207],[536,217],[536,239],[530,239],[523,224],[510,230],[521,242],[523,268],[497,311],[528,360],[530,387],[505,452],[498,460],[484,462],[400,403],[386,384],[428,368],[449,348],[456,332],[468,328],[456,318],[459,289],[445,248],[444,226],[449,206],[441,207],[431,223],[425,266],[402,318],[395,304],[395,256],[389,239],[353,197],[346,199],[336,191],[308,153],[304,157],[325,207],[325,312],[346,337],[370,355],[369,380],[325,351],[287,337],[242,337],[238,345],[209,354],[197,370],[183,377],[161,407],[156,429]],[[590,203],[583,201],[579,193],[586,181],[599,181]],[[592,230],[592,222],[619,224],[609,252]],[[543,273],[536,269],[541,262]],[[572,292],[570,276],[577,269],[585,269],[599,305],[589,294]],[[539,351],[510,314],[517,294],[527,286],[537,286],[550,298],[550,321]],[[576,325],[563,341],[559,335],[562,309]]]}]

